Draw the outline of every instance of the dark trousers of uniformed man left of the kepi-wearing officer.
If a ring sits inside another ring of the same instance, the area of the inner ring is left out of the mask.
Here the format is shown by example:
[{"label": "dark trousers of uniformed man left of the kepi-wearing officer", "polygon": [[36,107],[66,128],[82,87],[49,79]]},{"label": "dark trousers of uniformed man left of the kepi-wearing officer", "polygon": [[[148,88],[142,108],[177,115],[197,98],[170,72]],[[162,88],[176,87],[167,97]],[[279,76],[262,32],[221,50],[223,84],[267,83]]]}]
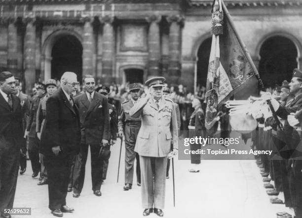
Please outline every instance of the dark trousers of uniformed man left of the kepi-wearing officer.
[{"label": "dark trousers of uniformed man left of the kepi-wearing officer", "polygon": [[37,137],[29,137],[28,154],[31,159],[33,172],[38,173],[41,165],[39,156],[39,139]]}]

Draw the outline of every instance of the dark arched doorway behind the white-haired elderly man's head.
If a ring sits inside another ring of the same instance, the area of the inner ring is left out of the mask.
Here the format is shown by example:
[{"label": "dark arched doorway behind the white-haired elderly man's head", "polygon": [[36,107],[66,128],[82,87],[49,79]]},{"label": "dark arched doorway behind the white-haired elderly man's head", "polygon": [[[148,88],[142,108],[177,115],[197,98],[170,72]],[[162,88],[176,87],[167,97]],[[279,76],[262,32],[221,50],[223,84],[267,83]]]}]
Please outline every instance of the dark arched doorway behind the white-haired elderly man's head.
[{"label": "dark arched doorway behind the white-haired elderly man's head", "polygon": [[82,52],[80,41],[74,35],[63,35],[51,50],[51,78],[60,79],[66,71],[75,72],[82,80]]}]

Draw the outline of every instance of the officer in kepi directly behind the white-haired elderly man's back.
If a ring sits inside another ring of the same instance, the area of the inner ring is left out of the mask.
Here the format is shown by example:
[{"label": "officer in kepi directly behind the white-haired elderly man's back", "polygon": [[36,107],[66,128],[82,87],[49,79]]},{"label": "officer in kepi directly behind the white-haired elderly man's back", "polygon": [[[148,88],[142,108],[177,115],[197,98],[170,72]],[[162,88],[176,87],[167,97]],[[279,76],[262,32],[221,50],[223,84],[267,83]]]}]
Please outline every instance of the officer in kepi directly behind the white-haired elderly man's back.
[{"label": "officer in kepi directly behind the white-haired elderly man's back", "polygon": [[[36,118],[36,132],[37,137],[41,139],[41,132],[43,130],[43,126],[45,124],[46,117],[46,101],[55,91],[57,91],[57,82],[54,79],[49,79],[45,83],[46,86],[46,95],[40,100],[38,110],[37,110],[37,118]],[[44,155],[42,154],[43,145],[40,144],[40,162],[41,162],[41,171],[40,178],[41,180],[38,182],[38,185],[47,184],[47,170],[44,165]]]}]

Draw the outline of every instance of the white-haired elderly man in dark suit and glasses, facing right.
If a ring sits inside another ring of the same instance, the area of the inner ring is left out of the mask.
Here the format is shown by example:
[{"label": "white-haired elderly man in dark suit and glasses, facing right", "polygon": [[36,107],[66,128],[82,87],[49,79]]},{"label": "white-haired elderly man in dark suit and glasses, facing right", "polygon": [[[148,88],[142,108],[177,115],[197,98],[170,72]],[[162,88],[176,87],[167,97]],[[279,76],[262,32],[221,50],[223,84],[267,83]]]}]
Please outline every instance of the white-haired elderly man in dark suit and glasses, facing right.
[{"label": "white-haired elderly man in dark suit and glasses, facing right", "polygon": [[61,88],[46,102],[41,144],[44,145],[44,163],[48,173],[49,209],[56,217],[74,211],[66,206],[66,195],[71,160],[79,152],[79,113],[72,96],[77,86],[76,74],[65,72],[61,77]]}]

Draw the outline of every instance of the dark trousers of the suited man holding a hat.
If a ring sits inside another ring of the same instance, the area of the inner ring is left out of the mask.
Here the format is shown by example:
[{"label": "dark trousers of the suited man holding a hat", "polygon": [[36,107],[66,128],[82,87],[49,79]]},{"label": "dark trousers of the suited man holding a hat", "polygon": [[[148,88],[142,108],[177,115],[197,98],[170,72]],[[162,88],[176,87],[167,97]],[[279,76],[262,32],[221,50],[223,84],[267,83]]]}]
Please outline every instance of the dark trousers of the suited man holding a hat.
[{"label": "dark trousers of the suited man holding a hat", "polygon": [[[103,162],[104,159],[99,157],[101,146],[90,145],[91,153],[91,179],[92,190],[100,190],[103,182]],[[80,152],[76,156],[76,163],[73,175],[74,193],[81,193],[84,185],[85,165],[88,156],[88,145],[81,144]]]}]

